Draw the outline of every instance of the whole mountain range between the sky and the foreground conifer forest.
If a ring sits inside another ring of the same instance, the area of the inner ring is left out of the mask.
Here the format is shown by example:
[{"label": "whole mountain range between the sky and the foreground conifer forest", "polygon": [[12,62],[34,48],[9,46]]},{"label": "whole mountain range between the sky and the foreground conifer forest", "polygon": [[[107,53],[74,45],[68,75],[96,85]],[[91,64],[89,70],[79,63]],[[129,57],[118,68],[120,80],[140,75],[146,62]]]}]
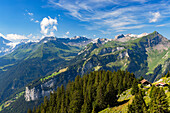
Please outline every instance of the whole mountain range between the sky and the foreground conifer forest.
[{"label": "whole mountain range between the sky and the foreground conifer forest", "polygon": [[26,100],[35,100],[77,75],[118,69],[158,80],[170,70],[170,41],[155,31],[115,39],[45,37],[20,45],[0,57],[0,102],[26,86]]}]

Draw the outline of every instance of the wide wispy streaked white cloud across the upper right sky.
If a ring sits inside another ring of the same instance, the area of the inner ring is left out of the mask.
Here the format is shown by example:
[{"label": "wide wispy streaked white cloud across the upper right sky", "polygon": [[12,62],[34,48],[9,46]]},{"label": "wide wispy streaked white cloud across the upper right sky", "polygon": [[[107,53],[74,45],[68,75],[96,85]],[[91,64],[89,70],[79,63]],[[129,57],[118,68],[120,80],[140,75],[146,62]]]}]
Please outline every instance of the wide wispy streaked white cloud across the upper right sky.
[{"label": "wide wispy streaked white cloud across the upper right sky", "polygon": [[[168,1],[148,1],[49,0],[49,5],[54,8],[62,8],[68,11],[67,14],[72,17],[88,22],[89,25],[83,25],[88,30],[99,30],[103,33],[110,33],[111,31],[139,29],[150,25],[152,22],[157,22],[159,18],[170,17],[170,5]],[[148,23],[148,20],[150,23]]]}]

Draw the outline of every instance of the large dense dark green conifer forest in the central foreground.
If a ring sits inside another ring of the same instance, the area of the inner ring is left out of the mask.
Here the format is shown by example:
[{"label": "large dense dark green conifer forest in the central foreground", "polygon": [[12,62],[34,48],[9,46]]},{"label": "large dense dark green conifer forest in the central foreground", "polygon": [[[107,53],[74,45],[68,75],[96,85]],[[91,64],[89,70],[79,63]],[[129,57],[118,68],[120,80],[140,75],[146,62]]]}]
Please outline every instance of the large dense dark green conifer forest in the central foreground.
[{"label": "large dense dark green conifer forest in the central foreground", "polygon": [[[123,83],[123,79],[126,82]],[[49,100],[44,97],[44,103],[32,112],[97,113],[108,106],[117,105],[118,92],[130,88],[134,79],[133,74],[120,70],[91,72],[82,78],[77,76],[74,82],[69,81],[66,89],[63,85],[58,87],[56,92],[50,94]]]}]

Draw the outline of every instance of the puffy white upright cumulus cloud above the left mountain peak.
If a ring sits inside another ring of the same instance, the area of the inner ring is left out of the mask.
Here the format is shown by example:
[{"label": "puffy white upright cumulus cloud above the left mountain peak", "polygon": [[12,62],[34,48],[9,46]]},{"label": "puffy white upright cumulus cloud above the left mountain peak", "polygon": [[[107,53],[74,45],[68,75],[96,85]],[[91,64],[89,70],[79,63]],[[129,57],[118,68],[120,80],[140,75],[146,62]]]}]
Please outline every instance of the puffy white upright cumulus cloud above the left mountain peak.
[{"label": "puffy white upright cumulus cloud above the left mountain peak", "polygon": [[44,17],[43,20],[40,22],[41,33],[43,35],[50,35],[54,34],[54,31],[57,31],[57,19],[52,19],[50,16]]}]

